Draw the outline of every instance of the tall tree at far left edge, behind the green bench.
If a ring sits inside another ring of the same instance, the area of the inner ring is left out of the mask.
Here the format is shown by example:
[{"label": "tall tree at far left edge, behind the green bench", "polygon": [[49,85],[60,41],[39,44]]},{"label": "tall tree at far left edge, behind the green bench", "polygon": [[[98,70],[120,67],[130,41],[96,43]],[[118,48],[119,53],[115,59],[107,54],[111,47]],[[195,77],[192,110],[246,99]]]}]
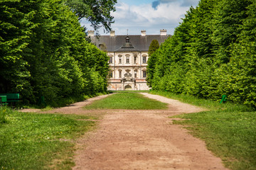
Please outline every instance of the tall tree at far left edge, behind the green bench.
[{"label": "tall tree at far left edge, behind the green bench", "polygon": [[15,1],[0,4],[0,92],[21,91],[31,76],[23,55],[29,50],[29,36],[35,27],[30,21],[34,11],[24,13],[16,6]]}]

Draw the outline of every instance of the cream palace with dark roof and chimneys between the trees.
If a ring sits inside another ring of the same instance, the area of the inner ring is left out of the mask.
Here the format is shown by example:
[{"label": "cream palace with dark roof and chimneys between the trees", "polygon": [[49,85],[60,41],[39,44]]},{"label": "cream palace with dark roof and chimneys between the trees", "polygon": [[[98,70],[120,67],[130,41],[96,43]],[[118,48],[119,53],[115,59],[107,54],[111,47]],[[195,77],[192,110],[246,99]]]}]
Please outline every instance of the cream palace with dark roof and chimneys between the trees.
[{"label": "cream palace with dark roof and chimneys between the trees", "polygon": [[88,36],[100,50],[106,50],[110,57],[110,79],[108,90],[149,90],[146,85],[146,66],[149,60],[149,45],[152,40],[159,44],[171,35],[166,30],[160,30],[159,35],[146,35],[142,30],[141,35],[115,35],[114,30],[110,35],[95,36],[93,30],[88,31]]}]

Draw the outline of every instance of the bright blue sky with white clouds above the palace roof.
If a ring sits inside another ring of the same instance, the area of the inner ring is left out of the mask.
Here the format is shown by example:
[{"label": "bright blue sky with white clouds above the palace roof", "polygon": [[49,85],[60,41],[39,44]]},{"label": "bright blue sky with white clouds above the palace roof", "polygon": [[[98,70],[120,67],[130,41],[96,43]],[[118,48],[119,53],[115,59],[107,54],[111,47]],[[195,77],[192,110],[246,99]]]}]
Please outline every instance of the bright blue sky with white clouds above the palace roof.
[{"label": "bright blue sky with white clouds above the palace roof", "polygon": [[[116,35],[137,35],[146,30],[147,35],[159,34],[166,29],[168,34],[174,33],[190,6],[196,7],[199,0],[117,0],[116,10],[112,13],[114,23],[112,30]],[[92,30],[85,20],[81,25]],[[100,29],[100,35],[109,35]]]}]

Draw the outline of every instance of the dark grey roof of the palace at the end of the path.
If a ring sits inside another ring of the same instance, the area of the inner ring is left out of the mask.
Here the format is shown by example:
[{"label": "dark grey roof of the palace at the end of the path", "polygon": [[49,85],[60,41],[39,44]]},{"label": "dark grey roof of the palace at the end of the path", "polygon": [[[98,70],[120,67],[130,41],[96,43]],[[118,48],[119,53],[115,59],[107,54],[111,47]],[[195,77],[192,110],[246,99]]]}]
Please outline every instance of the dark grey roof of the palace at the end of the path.
[{"label": "dark grey roof of the palace at the end of the path", "polygon": [[124,52],[148,51],[152,40],[158,40],[161,45],[169,37],[171,35],[129,35],[129,42],[127,42],[127,35],[101,35],[99,38],[95,36],[90,38],[97,47],[106,45],[108,52]]}]

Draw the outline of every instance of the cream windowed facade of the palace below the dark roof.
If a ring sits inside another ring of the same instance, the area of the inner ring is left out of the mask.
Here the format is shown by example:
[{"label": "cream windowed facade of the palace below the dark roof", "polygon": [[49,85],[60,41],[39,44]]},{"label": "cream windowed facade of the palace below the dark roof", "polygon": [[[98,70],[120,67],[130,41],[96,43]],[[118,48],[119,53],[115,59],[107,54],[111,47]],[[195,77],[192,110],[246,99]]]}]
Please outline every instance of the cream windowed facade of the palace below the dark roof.
[{"label": "cream windowed facade of the palace below the dark roof", "polygon": [[[112,72],[109,90],[128,90],[127,87],[131,87],[129,90],[149,90],[145,77],[148,52],[108,52],[108,56]],[[122,81],[125,73],[131,73],[135,81]]]}]

